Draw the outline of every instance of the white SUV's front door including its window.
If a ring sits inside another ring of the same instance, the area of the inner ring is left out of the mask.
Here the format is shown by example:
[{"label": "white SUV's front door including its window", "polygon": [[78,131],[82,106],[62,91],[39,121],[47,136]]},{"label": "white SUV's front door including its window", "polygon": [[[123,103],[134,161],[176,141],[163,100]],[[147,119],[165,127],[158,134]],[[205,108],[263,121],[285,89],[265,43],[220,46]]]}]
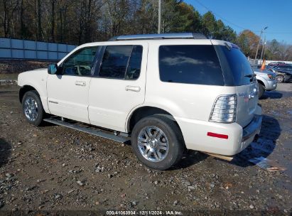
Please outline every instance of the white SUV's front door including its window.
[{"label": "white SUV's front door including its window", "polygon": [[59,65],[57,75],[48,75],[48,107],[51,114],[90,123],[88,91],[96,51],[96,46],[80,48]]}]

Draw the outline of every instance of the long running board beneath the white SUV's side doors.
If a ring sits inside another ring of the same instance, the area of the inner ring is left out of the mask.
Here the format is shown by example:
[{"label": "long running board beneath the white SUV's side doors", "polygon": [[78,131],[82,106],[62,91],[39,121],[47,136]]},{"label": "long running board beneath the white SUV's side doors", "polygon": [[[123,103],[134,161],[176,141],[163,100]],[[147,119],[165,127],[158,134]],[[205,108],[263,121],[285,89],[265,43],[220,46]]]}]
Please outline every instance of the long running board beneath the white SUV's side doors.
[{"label": "long running board beneath the white SUV's side doors", "polygon": [[70,128],[70,129],[75,129],[77,131],[82,131],[82,132],[85,132],[87,134],[92,134],[94,136],[100,136],[102,138],[110,139],[110,140],[117,141],[120,143],[126,143],[126,142],[129,142],[129,140],[130,140],[130,138],[126,137],[126,136],[117,136],[114,134],[108,134],[108,133],[102,131],[101,129],[91,129],[91,128],[87,128],[85,126],[71,124],[69,122],[61,121],[58,119],[49,118],[49,119],[43,119],[43,121],[47,121],[47,122],[50,122],[52,124],[58,124],[60,126],[65,126],[67,128]]}]

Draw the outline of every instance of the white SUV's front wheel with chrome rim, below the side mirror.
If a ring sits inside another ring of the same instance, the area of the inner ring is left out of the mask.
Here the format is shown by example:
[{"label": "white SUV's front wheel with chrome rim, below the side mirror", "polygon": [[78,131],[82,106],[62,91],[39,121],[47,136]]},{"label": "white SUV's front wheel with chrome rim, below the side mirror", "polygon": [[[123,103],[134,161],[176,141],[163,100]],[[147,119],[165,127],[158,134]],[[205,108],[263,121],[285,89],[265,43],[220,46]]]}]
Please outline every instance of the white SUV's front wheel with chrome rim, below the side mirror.
[{"label": "white SUV's front wheel with chrome rim, below the side mirror", "polygon": [[29,91],[23,95],[22,111],[30,124],[39,126],[42,123],[45,112],[38,92]]}]

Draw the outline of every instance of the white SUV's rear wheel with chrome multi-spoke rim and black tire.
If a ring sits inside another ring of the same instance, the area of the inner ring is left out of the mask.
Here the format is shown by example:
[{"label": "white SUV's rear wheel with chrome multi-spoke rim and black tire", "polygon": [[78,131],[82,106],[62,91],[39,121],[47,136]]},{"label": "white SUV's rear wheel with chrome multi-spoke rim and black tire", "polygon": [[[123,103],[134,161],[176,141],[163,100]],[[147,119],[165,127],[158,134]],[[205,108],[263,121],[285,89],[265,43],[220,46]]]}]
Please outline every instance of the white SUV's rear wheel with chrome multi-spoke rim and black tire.
[{"label": "white SUV's rear wheel with chrome multi-spoke rim and black tire", "polygon": [[157,170],[178,163],[185,149],[178,125],[158,115],[138,121],[131,134],[131,146],[141,163]]}]

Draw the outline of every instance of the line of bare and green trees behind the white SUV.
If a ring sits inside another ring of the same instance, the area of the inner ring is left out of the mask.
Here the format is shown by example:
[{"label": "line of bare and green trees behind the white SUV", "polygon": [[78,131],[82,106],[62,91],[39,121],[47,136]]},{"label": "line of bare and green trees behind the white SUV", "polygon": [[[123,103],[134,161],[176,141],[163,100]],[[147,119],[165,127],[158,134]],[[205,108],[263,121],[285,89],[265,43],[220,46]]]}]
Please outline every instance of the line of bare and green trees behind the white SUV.
[{"label": "line of bare and green trees behind the white SUV", "polygon": [[[80,45],[126,34],[157,33],[158,0],[1,0],[0,36]],[[237,33],[211,11],[200,14],[183,0],[162,0],[161,33],[198,32],[231,41],[254,58],[259,36]],[[269,41],[261,54],[292,60],[292,46]]]}]

